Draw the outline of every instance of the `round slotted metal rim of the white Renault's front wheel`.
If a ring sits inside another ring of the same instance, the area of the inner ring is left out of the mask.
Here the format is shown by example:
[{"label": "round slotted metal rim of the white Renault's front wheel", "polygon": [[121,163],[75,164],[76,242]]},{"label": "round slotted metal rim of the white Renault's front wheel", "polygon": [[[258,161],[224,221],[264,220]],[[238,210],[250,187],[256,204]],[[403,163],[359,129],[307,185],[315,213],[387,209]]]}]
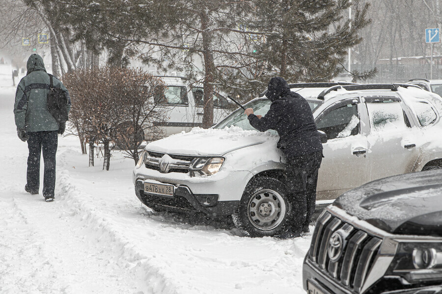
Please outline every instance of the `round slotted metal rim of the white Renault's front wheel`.
[{"label": "round slotted metal rim of the white Renault's front wheel", "polygon": [[247,214],[250,223],[257,229],[270,231],[276,228],[285,216],[285,202],[274,190],[264,189],[250,197]]}]

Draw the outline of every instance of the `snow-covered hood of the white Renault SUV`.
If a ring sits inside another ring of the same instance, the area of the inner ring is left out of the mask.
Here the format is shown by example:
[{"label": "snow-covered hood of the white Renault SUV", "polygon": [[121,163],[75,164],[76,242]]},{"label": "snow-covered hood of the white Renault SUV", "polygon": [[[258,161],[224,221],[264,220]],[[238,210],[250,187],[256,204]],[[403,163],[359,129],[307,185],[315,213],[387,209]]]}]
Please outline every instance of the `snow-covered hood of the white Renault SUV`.
[{"label": "snow-covered hood of the white Renault SUV", "polygon": [[151,142],[145,149],[176,155],[221,156],[233,150],[277,139],[277,136],[268,132],[245,131],[236,126],[224,129],[195,127],[188,133],[182,132]]}]

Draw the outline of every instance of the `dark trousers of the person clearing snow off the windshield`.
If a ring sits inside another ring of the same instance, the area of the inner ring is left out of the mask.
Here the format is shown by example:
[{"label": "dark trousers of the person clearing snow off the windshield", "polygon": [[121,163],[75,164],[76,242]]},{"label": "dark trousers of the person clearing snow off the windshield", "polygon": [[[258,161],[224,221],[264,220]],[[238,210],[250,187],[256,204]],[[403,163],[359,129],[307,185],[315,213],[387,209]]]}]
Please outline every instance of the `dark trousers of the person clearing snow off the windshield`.
[{"label": "dark trousers of the person clearing snow off the windshield", "polygon": [[291,204],[291,228],[297,232],[308,231],[315,211],[318,170],[322,151],[298,157],[287,157],[287,192]]}]

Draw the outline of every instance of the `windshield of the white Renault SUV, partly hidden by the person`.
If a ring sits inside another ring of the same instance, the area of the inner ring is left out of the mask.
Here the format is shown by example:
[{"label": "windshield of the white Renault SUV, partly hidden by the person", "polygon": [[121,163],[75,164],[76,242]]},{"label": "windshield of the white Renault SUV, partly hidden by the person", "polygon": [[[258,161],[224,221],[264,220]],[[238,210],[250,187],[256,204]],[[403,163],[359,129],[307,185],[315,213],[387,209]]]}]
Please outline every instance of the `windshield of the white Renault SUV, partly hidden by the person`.
[{"label": "windshield of the white Renault SUV, partly hidden by the person", "polygon": [[[323,103],[322,101],[319,100],[310,100],[310,99],[307,99],[307,102],[310,105],[312,111],[314,111],[316,108],[318,108],[319,105]],[[272,104],[272,102],[269,99],[263,98],[263,99],[250,101],[249,103],[244,105],[244,107],[253,108],[254,114],[264,116],[267,113],[267,111],[269,111],[270,104]],[[249,120],[244,114],[244,110],[241,108],[235,110],[232,114],[230,114],[228,117],[222,120],[221,123],[218,123],[214,128],[222,129],[226,126],[230,127],[232,125],[238,126],[243,130],[255,130],[255,128],[250,125]]]}]

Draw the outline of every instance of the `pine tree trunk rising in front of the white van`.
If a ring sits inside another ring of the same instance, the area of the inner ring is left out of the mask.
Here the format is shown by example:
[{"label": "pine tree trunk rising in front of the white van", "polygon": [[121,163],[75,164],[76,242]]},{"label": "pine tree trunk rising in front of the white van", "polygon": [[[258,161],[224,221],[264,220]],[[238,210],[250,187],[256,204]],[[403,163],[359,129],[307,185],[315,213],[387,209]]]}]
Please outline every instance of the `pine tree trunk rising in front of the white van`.
[{"label": "pine tree trunk rising in front of the white van", "polygon": [[203,30],[202,44],[203,44],[203,58],[204,58],[204,72],[205,78],[203,81],[204,88],[204,114],[202,119],[203,128],[209,128],[213,124],[213,72],[215,71],[215,64],[213,60],[213,52],[211,49],[212,36],[208,32],[208,15],[203,11],[200,15],[201,30]]}]

